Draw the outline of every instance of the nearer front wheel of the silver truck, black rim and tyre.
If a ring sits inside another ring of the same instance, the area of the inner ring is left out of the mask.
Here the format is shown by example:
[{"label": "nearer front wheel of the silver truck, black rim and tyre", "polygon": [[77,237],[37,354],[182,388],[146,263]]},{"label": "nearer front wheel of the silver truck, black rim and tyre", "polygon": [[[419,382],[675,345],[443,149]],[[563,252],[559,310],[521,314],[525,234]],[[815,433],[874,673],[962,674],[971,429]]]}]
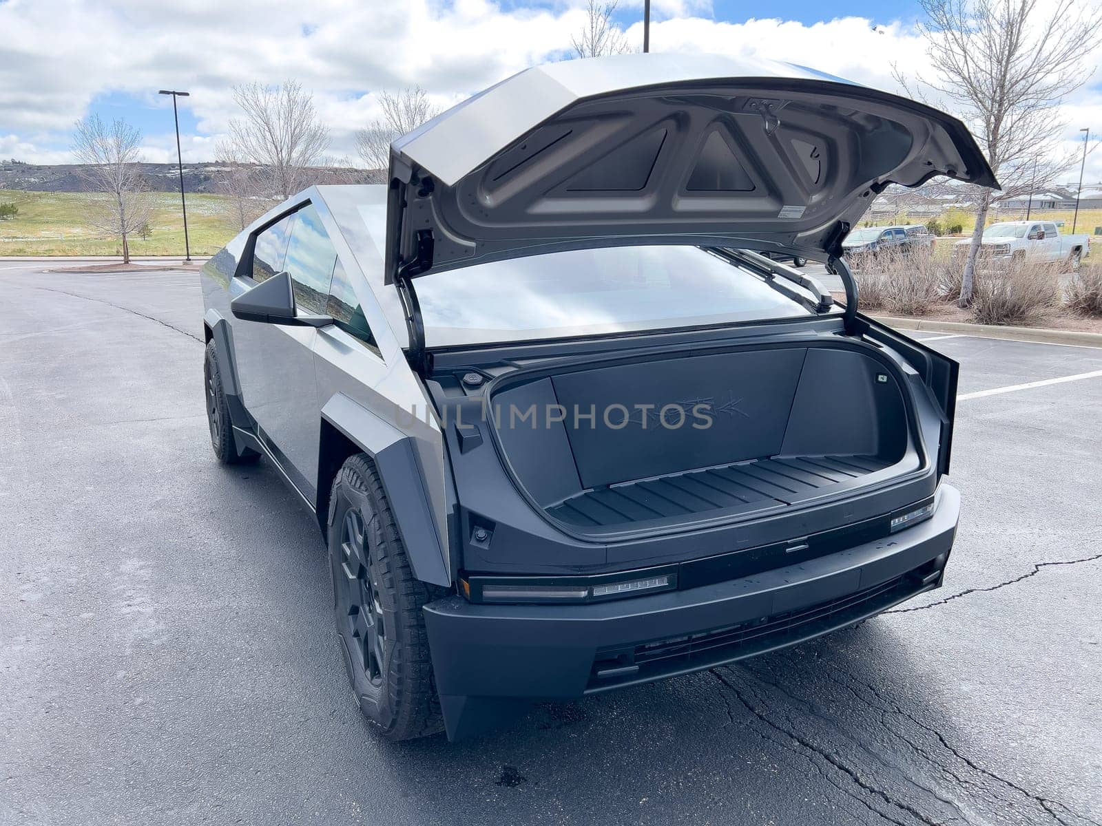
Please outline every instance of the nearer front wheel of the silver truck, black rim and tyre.
[{"label": "nearer front wheel of the silver truck, black rim and tyre", "polygon": [[333,608],[360,710],[389,740],[443,729],[422,607],[442,596],[414,578],[375,466],[365,454],[333,480]]}]

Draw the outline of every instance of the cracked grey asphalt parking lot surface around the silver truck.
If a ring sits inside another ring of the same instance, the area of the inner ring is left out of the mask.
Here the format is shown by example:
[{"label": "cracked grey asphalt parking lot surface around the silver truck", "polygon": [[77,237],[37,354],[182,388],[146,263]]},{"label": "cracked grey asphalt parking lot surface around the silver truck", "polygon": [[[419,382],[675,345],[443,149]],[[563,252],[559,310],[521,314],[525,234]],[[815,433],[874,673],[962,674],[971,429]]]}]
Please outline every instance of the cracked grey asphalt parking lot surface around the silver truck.
[{"label": "cracked grey asphalt parking lot surface around the silver truck", "polygon": [[0,823],[1102,822],[1102,349],[918,334],[961,362],[940,590],[390,745],[316,523],[212,456],[197,276],[41,267],[0,261]]}]

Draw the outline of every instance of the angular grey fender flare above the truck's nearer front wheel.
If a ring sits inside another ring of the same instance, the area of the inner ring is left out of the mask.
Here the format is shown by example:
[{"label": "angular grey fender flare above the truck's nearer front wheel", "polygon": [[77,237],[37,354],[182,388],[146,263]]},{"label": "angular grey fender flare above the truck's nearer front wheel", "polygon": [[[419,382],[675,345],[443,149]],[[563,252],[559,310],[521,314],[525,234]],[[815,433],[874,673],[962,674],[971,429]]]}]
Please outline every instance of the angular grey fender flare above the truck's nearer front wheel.
[{"label": "angular grey fender flare above the truck's nearer front wheel", "polygon": [[[446,545],[432,515],[412,438],[344,393],[325,403],[322,419],[375,461],[413,576],[451,587]],[[329,517],[333,507],[331,502]]]}]

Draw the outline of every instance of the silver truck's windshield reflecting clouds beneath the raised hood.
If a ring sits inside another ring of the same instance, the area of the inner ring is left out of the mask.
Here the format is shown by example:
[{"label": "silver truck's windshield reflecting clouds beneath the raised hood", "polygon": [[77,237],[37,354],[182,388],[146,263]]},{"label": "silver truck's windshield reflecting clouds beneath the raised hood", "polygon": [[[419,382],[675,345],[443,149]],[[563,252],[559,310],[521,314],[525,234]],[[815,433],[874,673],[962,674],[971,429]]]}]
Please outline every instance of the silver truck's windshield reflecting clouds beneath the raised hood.
[{"label": "silver truck's windshield reflecting clouds beneath the raised hood", "polygon": [[430,347],[811,315],[696,247],[532,256],[430,273],[415,290]]}]

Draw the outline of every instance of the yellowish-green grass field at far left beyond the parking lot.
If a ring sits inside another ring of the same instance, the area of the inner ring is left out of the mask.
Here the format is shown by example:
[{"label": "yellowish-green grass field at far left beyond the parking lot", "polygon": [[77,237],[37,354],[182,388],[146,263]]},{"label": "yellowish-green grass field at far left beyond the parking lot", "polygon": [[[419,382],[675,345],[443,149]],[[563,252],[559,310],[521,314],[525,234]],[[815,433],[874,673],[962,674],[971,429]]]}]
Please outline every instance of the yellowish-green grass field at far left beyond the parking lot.
[{"label": "yellowish-green grass field at far left beyond the parking lot", "polygon": [[[0,256],[121,256],[122,242],[104,238],[86,219],[99,209],[100,193],[47,193],[0,189],[0,203],[14,203],[19,214],[0,220]],[[183,256],[184,225],[180,195],[151,193],[154,208],[149,240],[129,239],[131,256]],[[222,195],[187,196],[187,236],[192,254],[209,256],[237,233]]]}]

